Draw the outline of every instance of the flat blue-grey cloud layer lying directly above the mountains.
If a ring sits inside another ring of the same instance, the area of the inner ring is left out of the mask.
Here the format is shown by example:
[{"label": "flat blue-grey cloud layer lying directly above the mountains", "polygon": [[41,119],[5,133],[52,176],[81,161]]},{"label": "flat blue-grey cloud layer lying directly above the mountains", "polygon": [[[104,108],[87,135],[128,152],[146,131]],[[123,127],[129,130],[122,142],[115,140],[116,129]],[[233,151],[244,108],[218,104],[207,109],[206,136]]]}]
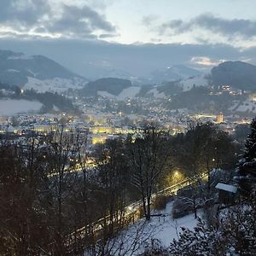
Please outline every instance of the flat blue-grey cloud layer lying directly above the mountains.
[{"label": "flat blue-grey cloud layer lying directly above the mountains", "polygon": [[[218,60],[247,60],[256,64],[256,50],[241,51],[230,45],[200,44],[111,44],[99,40],[9,40],[0,41],[0,49],[13,49],[27,55],[46,55],[87,78],[108,68],[145,76],[155,69],[176,64],[207,67],[196,64],[193,58],[207,56]],[[108,65],[106,65],[108,63]],[[208,67],[209,68],[209,67]]]}]

